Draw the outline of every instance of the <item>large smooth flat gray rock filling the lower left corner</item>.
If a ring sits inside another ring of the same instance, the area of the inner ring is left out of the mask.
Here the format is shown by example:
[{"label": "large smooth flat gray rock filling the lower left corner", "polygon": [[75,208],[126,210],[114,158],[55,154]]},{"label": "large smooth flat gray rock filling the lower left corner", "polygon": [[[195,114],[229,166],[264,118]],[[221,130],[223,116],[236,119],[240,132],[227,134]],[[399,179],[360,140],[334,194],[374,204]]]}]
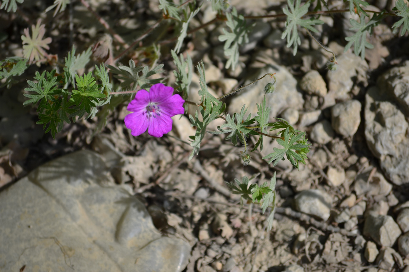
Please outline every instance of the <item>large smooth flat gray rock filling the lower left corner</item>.
[{"label": "large smooth flat gray rock filling the lower left corner", "polygon": [[79,151],[0,193],[0,270],[182,271],[190,246],[164,237],[103,159]]}]

